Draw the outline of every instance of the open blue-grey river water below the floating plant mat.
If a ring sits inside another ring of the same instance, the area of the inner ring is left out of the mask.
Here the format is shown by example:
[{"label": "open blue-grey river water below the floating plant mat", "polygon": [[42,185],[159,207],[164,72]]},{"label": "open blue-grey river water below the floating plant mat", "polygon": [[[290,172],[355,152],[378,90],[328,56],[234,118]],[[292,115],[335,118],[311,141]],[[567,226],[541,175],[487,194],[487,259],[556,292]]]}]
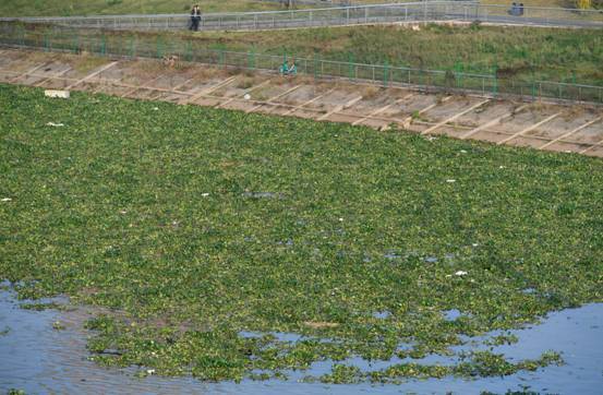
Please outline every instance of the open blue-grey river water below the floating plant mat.
[{"label": "open blue-grey river water below the floating plant mat", "polygon": [[[560,351],[566,364],[506,378],[411,380],[400,385],[326,385],[289,381],[204,383],[192,378],[138,379],[136,368],[105,369],[87,360],[84,311],[64,313],[20,308],[11,290],[0,290],[0,393],[9,388],[27,394],[479,394],[483,391],[532,391],[542,394],[603,394],[603,303],[551,313],[542,324],[512,331],[517,344],[498,346],[514,359],[538,358],[543,351]],[[65,328],[55,330],[60,321]],[[360,362],[364,368],[367,362]],[[431,361],[433,362],[433,361]],[[358,363],[357,363],[358,364]],[[362,367],[361,367],[362,368]],[[381,368],[373,366],[373,369]],[[311,373],[329,370],[316,363]]]}]

